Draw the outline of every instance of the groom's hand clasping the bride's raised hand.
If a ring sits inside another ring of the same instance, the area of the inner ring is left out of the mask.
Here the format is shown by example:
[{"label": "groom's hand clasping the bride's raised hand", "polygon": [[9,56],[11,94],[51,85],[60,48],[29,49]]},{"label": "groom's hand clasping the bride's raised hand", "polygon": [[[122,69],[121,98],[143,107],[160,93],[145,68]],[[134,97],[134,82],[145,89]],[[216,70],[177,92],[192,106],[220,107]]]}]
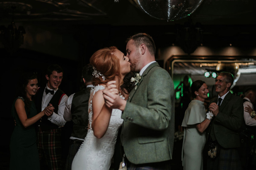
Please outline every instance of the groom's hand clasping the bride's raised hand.
[{"label": "groom's hand clasping the bride's raised hand", "polygon": [[119,110],[124,111],[126,101],[121,99],[118,94],[110,92],[110,90],[103,90],[103,97],[105,99],[106,106],[109,108],[118,108]]}]

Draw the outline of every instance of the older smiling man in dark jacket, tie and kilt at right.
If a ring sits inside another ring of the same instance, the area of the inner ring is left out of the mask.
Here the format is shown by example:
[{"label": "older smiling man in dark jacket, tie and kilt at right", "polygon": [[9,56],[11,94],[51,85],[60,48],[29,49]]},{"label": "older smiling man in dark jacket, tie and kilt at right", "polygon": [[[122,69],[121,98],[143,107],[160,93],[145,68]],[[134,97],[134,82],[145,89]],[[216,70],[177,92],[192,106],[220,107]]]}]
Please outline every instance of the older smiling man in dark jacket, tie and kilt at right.
[{"label": "older smiling man in dark jacket, tie and kilt at right", "polygon": [[240,147],[238,129],[243,121],[243,101],[231,94],[233,75],[221,72],[215,83],[218,97],[211,99],[209,109],[214,114],[207,132],[207,139],[219,146],[217,157],[207,160],[207,170],[241,169],[237,148]]}]

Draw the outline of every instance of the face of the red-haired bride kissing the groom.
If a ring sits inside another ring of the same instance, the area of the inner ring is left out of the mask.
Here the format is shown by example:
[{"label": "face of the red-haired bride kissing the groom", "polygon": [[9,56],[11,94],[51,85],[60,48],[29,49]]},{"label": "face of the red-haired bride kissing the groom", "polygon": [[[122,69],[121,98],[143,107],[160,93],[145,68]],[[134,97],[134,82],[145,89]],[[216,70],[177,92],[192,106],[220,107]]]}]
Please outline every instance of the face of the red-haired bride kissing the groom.
[{"label": "face of the red-haired bride kissing the groom", "polygon": [[121,52],[119,50],[115,50],[114,54],[119,59],[120,74],[121,75],[127,75],[131,71],[129,58],[127,56],[125,56],[123,52]]}]

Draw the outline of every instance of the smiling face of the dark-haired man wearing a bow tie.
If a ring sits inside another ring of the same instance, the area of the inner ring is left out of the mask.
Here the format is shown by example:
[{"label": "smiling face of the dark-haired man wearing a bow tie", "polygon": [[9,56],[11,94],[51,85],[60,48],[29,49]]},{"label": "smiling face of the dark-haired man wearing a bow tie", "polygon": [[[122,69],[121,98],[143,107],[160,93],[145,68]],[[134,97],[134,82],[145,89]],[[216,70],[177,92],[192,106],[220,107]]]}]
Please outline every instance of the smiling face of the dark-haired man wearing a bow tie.
[{"label": "smiling face of the dark-haired man wearing a bow tie", "polygon": [[50,89],[55,90],[60,86],[63,78],[63,72],[58,73],[57,71],[53,71],[50,76],[46,75],[45,77],[48,80],[47,86]]}]

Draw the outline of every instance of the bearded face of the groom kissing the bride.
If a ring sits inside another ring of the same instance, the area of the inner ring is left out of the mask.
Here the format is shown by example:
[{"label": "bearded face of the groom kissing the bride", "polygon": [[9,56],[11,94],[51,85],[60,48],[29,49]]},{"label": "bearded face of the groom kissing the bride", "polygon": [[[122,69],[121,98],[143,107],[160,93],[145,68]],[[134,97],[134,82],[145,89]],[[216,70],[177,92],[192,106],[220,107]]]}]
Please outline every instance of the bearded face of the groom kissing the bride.
[{"label": "bearded face of the groom kissing the bride", "polygon": [[139,69],[140,56],[138,48],[136,48],[133,40],[129,40],[126,45],[126,56],[129,58],[131,63],[131,71],[137,72]]}]

